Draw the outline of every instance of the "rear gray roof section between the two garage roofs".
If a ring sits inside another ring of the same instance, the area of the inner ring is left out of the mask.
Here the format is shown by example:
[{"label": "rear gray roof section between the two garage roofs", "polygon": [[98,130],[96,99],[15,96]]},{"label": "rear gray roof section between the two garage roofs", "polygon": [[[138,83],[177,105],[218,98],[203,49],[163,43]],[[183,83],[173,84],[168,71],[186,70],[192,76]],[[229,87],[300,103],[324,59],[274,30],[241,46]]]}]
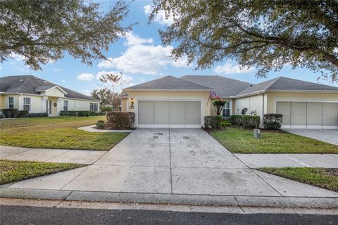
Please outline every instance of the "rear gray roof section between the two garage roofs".
[{"label": "rear gray roof section between the two garage roofs", "polygon": [[250,83],[242,82],[237,79],[230,79],[220,76],[201,76],[201,75],[188,75],[180,77],[180,79],[194,82],[199,85],[210,86],[221,98],[228,98],[236,95],[239,91],[246,89]]}]

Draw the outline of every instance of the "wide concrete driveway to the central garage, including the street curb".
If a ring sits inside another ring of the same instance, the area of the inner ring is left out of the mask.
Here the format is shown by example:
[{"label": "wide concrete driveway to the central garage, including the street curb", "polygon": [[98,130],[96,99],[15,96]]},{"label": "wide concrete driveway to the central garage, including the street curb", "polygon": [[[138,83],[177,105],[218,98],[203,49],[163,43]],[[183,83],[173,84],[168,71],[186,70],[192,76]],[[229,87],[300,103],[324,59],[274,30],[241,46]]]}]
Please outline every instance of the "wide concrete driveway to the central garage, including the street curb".
[{"label": "wide concrete driveway to the central garage, including the street curb", "polygon": [[201,129],[137,129],[93,165],[2,186],[1,196],[338,207],[338,193],[251,169]]}]

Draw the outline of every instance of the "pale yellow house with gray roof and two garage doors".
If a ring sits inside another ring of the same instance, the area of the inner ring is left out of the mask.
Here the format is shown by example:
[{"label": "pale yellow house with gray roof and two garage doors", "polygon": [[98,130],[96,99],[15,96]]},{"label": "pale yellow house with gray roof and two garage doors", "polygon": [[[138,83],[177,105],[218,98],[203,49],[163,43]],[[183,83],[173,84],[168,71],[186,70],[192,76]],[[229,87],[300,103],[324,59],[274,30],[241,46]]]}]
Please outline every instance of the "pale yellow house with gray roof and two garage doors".
[{"label": "pale yellow house with gray roof and two garage doors", "polygon": [[137,127],[201,127],[215,115],[215,91],[227,103],[223,116],[281,113],[282,128],[338,129],[338,87],[277,77],[249,84],[220,76],[167,76],[123,90],[124,112],[134,112]]}]

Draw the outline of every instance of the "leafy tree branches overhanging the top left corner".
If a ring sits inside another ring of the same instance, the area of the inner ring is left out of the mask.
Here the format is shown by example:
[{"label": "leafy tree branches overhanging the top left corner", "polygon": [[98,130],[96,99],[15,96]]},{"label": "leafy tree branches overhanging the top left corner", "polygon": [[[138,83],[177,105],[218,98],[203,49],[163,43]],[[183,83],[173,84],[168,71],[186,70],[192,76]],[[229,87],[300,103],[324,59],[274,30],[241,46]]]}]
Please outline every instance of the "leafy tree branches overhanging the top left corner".
[{"label": "leafy tree branches overhanging the top left corner", "polygon": [[118,1],[107,13],[84,0],[3,0],[0,4],[0,63],[15,55],[33,70],[67,52],[82,63],[105,60],[102,51],[124,35],[127,5]]}]

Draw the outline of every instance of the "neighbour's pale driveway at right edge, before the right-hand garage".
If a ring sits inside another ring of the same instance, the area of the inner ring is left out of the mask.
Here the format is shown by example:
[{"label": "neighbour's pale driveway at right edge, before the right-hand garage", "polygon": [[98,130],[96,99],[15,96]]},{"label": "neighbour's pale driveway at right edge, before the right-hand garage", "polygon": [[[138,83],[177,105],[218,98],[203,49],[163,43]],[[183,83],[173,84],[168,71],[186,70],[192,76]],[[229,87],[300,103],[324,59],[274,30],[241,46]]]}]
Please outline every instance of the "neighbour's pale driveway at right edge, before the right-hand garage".
[{"label": "neighbour's pale driveway at right edge, before the right-hand garage", "polygon": [[338,129],[283,129],[292,134],[338,145]]}]

